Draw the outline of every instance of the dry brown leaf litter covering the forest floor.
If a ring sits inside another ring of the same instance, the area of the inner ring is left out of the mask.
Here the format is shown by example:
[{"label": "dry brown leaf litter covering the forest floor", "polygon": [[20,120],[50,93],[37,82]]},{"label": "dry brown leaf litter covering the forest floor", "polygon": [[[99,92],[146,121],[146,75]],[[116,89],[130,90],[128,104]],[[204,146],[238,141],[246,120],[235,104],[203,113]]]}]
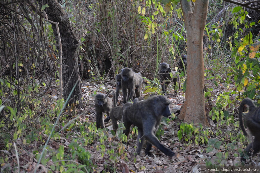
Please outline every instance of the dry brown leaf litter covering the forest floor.
[{"label": "dry brown leaf litter covering the forest floor", "polygon": [[[100,85],[82,81],[82,94],[83,94],[83,109],[77,110],[77,115],[79,115],[79,121],[78,122],[95,122],[95,107],[94,107],[94,92],[100,91]],[[101,86],[103,88],[104,93],[106,93],[107,89],[115,89],[115,83],[114,81],[106,81],[105,86]],[[106,91],[105,91],[106,89]],[[102,91],[102,90],[101,90]],[[181,108],[183,106],[184,102],[184,92],[179,91],[178,95],[174,95],[174,90],[172,87],[169,87],[168,93],[166,97],[172,101],[172,104],[170,105],[171,111],[175,112],[175,115],[178,117],[179,110],[173,110],[176,109],[176,106]],[[217,95],[219,93],[225,92],[225,88],[220,86],[216,87],[211,91],[211,101],[214,102],[216,100]],[[149,94],[141,94],[140,100],[143,100],[144,97]],[[119,97],[120,104],[123,101],[122,95]],[[210,103],[215,105],[215,103]],[[179,109],[178,108],[178,109]],[[209,109],[211,108],[211,105],[209,103],[206,104],[206,112],[209,113]],[[229,110],[230,113],[236,112],[237,106],[234,106],[232,110]],[[75,117],[70,117],[69,119],[73,119]],[[181,121],[178,120],[178,118],[174,119],[170,118],[170,121],[168,124],[163,124],[163,130],[164,135],[160,136],[160,142],[163,143],[164,146],[166,146],[169,149],[172,149],[175,152],[175,157],[168,157],[165,154],[163,154],[160,150],[158,150],[156,147],[152,147],[152,156],[148,157],[144,155],[145,145],[141,151],[141,155],[135,156],[135,146],[136,146],[136,135],[133,135],[133,138],[129,139],[129,145],[124,145],[125,147],[125,154],[121,155],[120,158],[117,158],[117,162],[114,162],[111,160],[111,154],[108,154],[109,152],[103,152],[100,153],[100,150],[98,149],[98,145],[100,145],[100,141],[98,138],[94,139],[94,142],[91,144],[88,144],[86,146],[83,146],[84,149],[91,153],[90,160],[92,161],[93,165],[95,167],[93,168],[93,172],[128,172],[128,169],[130,172],[155,172],[155,173],[161,173],[161,172],[201,172],[203,171],[203,167],[206,164],[206,160],[210,160],[212,163],[215,163],[215,165],[221,164],[221,162],[224,160],[224,165],[230,166],[237,166],[241,165],[239,153],[237,151],[238,147],[235,146],[234,149],[230,149],[227,146],[219,146],[215,147],[211,152],[206,152],[208,149],[208,145],[205,144],[199,144],[196,145],[194,140],[194,137],[189,138],[183,138],[182,140],[179,140],[178,138],[178,131],[180,130]],[[70,121],[68,120],[68,121]],[[237,114],[234,115],[234,121],[238,121]],[[216,122],[210,121],[211,127],[203,127],[202,131],[210,131],[211,133],[208,135],[208,138],[217,138],[222,139],[226,143],[232,143],[232,141],[229,140],[229,136],[227,134],[237,134],[240,133],[240,129],[235,129],[232,125],[230,126],[221,126],[222,134],[215,135],[217,126],[215,126]],[[111,126],[111,122],[108,122],[105,124],[106,127]],[[57,129],[59,131],[59,129]],[[70,135],[68,135],[68,134]],[[49,149],[48,152],[55,153],[60,148],[60,146],[64,146],[64,154],[69,154],[70,148],[68,147],[69,144],[77,139],[77,137],[80,136],[80,132],[77,131],[77,128],[72,128],[71,131],[68,132],[62,132],[60,134],[59,139],[51,140],[48,143]],[[44,141],[47,140],[48,135],[44,135]],[[111,148],[114,149],[115,152],[118,151],[118,145],[120,141],[117,137],[113,137],[108,132],[108,140],[104,141],[104,145],[106,146],[106,150],[109,150]],[[41,142],[40,140],[33,142],[29,145],[24,144],[24,140],[18,138],[16,140],[16,144],[18,147],[18,153],[19,153],[19,165],[20,165],[20,172],[33,172],[34,168],[37,164],[37,159],[35,157],[35,151],[42,152],[42,148],[45,145],[44,142]],[[242,144],[238,142],[238,146],[242,148]],[[10,153],[11,152],[11,153]],[[226,153],[229,153],[231,155],[228,158],[224,158],[224,155]],[[217,155],[217,153],[223,153],[221,157]],[[238,154],[238,155],[235,155]],[[6,158],[8,157],[8,164],[2,164],[1,166],[10,166],[15,167],[17,166],[17,158],[15,154],[15,150],[1,150],[0,157]],[[55,154],[54,154],[55,155]],[[103,155],[103,156],[102,156]],[[45,155],[45,157],[48,157],[48,155]],[[251,165],[258,165],[259,159],[258,157],[254,158],[253,164]],[[75,160],[77,162],[77,160]],[[7,162],[5,162],[7,163]],[[79,161],[80,163],[80,161]],[[52,159],[49,159],[46,165],[40,164],[39,171],[37,172],[49,172],[51,165],[54,165]],[[222,164],[223,165],[223,164]],[[3,168],[3,167],[2,167]],[[15,171],[13,171],[15,172]],[[56,171],[54,171],[56,172]],[[208,172],[208,171],[206,171]],[[210,172],[210,171],[209,171]]]}]

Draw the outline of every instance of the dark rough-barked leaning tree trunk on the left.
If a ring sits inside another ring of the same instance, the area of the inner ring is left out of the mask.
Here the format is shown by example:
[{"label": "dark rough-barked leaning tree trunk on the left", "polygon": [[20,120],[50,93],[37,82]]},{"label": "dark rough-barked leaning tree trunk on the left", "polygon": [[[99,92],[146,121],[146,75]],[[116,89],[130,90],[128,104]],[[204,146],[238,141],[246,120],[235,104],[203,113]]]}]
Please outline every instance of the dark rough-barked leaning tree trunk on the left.
[{"label": "dark rough-barked leaning tree trunk on the left", "polygon": [[[38,2],[39,7],[44,4],[49,5],[48,8],[45,8],[49,20],[59,22],[59,32],[62,43],[62,88],[64,100],[68,98],[74,84],[79,80],[70,97],[69,105],[72,103],[76,104],[76,101],[78,100],[79,104],[77,107],[82,107],[78,58],[76,57],[76,50],[79,44],[77,36],[72,30],[69,18],[65,17],[66,13],[57,0],[38,0]],[[59,43],[55,24],[52,24],[52,29],[56,38],[56,43]]]}]

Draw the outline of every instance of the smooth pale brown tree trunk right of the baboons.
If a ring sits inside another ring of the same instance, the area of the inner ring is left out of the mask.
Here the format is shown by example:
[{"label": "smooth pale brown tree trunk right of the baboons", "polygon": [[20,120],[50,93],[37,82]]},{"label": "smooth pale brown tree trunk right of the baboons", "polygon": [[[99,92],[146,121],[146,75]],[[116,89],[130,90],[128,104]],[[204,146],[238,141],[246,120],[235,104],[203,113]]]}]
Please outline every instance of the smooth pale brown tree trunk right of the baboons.
[{"label": "smooth pale brown tree trunk right of the baboons", "polygon": [[181,8],[187,31],[187,83],[184,106],[179,115],[187,122],[209,126],[205,112],[203,35],[208,0],[182,0]]}]

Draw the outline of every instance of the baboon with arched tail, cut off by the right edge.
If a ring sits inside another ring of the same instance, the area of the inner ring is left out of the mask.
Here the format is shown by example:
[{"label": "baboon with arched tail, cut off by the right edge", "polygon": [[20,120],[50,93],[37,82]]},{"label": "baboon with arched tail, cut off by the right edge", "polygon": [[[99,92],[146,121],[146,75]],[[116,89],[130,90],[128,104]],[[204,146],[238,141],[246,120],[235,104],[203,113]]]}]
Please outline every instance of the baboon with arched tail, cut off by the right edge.
[{"label": "baboon with arched tail, cut off by the right edge", "polygon": [[[243,112],[244,105],[247,105],[249,107],[249,112],[244,116],[244,121],[243,121],[242,112]],[[251,99],[245,98],[242,100],[239,106],[238,117],[239,117],[239,124],[244,135],[248,136],[248,133],[245,129],[245,126],[247,126],[247,128],[250,131],[250,134],[254,136],[253,141],[247,146],[246,149],[244,149],[241,155],[241,162],[245,162],[246,155],[253,157],[260,151],[260,106],[256,107]]]}]

